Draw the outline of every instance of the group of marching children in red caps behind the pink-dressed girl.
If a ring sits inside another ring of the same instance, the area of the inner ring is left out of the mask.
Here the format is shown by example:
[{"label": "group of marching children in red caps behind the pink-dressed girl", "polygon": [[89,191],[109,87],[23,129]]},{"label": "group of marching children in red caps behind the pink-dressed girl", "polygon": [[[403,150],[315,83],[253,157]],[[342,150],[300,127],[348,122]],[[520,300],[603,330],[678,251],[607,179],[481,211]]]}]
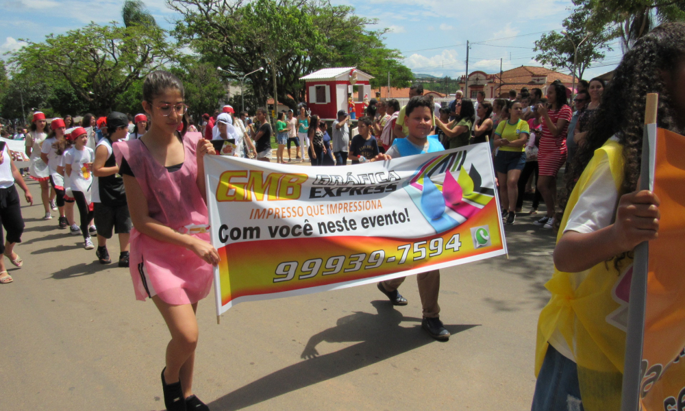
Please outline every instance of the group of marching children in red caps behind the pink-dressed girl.
[{"label": "group of marching children in red caps behind the pink-dressed girl", "polygon": [[[147,117],[142,120],[136,116],[136,121],[132,138],[140,135],[138,128],[144,133],[147,126]],[[121,247],[119,266],[129,266],[132,223],[112,151],[112,143],[129,137],[127,116],[110,113],[106,120],[99,121],[95,133],[92,127],[67,129],[63,119],[53,119],[48,126],[45,114],[36,112],[31,128],[26,142],[29,177],[40,182],[44,219],[52,219],[51,210],[58,211],[58,227],[69,227],[74,235],[82,234],[86,250],[95,249],[92,236],[97,235],[95,254],[102,264],[112,262],[106,242],[114,230]],[[74,204],[80,225],[74,219]]]}]

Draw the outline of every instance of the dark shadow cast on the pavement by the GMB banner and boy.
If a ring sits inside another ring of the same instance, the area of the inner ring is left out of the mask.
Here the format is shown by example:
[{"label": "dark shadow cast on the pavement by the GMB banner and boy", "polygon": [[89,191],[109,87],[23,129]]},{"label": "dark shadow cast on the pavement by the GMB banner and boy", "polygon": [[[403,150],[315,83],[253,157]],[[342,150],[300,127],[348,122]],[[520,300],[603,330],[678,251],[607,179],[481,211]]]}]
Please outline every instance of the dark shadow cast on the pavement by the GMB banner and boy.
[{"label": "dark shadow cast on the pavement by the GMB banner and boy", "polygon": [[[421,319],[403,316],[388,301],[372,301],[377,314],[355,312],[338,319],[336,327],[325,329],[310,338],[301,358],[292,364],[242,386],[208,404],[212,410],[240,410],[262,401],[326,381],[365,366],[387,360],[401,353],[433,343],[421,325],[401,327],[402,321],[421,323]],[[451,334],[457,334],[477,325],[445,325]],[[359,344],[334,353],[319,356],[316,345],[327,343]]]}]

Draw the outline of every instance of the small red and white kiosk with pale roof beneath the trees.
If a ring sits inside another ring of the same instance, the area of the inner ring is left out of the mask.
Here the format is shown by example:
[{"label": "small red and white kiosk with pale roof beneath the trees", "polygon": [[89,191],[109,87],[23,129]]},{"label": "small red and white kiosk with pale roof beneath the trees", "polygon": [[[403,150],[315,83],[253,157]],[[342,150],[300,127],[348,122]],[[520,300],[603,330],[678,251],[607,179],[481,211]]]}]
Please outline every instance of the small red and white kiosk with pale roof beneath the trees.
[{"label": "small red and white kiosk with pale roof beneath the trees", "polygon": [[357,118],[364,112],[364,96],[371,98],[373,76],[356,67],[334,67],[314,71],[304,77],[307,105],[320,119],[336,119],[338,110],[349,112],[348,93]]}]

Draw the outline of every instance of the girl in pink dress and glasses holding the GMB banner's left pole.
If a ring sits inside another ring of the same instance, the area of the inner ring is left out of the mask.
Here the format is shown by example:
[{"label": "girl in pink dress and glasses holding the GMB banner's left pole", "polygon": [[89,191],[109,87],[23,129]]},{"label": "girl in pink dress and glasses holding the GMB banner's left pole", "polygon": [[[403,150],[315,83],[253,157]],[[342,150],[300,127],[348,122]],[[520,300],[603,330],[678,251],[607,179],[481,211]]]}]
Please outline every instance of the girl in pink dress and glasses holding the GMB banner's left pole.
[{"label": "girl in pink dress and glasses holding the GMB banner's left pole", "polygon": [[166,71],[153,71],[142,88],[151,119],[144,136],[114,143],[134,228],[130,271],[136,298],[150,297],[171,341],[162,370],[169,411],[209,410],[192,395],[197,346],[197,302],[212,286],[219,254],[209,244],[203,155],[214,153],[199,133],[188,133],[184,88]]}]

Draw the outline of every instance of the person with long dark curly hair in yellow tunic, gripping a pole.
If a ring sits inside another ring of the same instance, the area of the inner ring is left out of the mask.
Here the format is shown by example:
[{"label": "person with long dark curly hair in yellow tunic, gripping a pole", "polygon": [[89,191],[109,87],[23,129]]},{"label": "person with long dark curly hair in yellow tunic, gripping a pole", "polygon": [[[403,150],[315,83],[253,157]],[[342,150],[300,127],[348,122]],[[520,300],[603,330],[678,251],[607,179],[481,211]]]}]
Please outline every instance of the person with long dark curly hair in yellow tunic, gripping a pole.
[{"label": "person with long dark curly hair in yellow tunic, gripping a pole", "polygon": [[636,190],[649,92],[660,95],[658,126],[682,134],[685,23],[661,25],[625,53],[566,171],[532,411],[621,407],[632,250],[658,236],[660,219],[656,195]]}]

